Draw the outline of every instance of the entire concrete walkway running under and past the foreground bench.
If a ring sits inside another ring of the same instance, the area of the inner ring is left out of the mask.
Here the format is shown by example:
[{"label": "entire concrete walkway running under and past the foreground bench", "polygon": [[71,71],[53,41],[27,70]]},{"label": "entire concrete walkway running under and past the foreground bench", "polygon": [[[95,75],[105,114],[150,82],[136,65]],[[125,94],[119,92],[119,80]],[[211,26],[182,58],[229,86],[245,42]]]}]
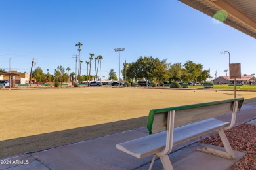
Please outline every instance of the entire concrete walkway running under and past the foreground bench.
[{"label": "entire concrete walkway running under and past the foreground bench", "polygon": [[[243,105],[238,112],[236,125],[250,120],[253,120],[249,122],[250,124],[256,124],[255,110],[255,102]],[[220,116],[218,119],[228,120],[228,116]],[[148,169],[152,156],[137,159],[116,149],[117,143],[146,135],[148,131],[143,127],[49,150],[4,158],[0,160],[0,169]],[[197,139],[175,146],[173,152],[169,154],[173,168],[228,169],[245,154],[235,151],[236,160],[227,160],[196,151],[195,148],[200,146],[202,143]],[[153,169],[163,169],[159,159],[155,161]]]}]

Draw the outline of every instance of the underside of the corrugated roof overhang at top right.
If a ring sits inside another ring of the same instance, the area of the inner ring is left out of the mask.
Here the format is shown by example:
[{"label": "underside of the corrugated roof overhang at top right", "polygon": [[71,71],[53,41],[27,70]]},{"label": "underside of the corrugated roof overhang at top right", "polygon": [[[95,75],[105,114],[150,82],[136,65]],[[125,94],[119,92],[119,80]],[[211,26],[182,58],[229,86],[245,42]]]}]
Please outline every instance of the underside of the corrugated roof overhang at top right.
[{"label": "underside of the corrugated roof overhang at top right", "polygon": [[252,0],[179,0],[214,18],[219,11],[226,11],[224,24],[256,38],[256,1]]}]

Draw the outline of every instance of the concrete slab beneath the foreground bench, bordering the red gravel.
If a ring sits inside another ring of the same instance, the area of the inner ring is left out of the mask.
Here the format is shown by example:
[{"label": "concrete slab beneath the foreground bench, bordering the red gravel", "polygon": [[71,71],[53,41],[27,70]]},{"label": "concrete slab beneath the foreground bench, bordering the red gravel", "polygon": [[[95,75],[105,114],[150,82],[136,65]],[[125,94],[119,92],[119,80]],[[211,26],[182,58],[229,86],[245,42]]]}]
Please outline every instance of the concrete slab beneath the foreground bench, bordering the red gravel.
[{"label": "concrete slab beneath the foreground bench, bordering the red gravel", "polygon": [[[207,170],[224,170],[232,166],[236,161],[240,160],[245,153],[234,151],[236,154],[235,160],[228,160],[226,158],[221,158],[219,156],[214,156],[211,154],[206,154],[196,150],[196,148],[202,148],[202,143],[194,143],[186,148],[183,148],[177,152],[169,154],[171,163],[173,164],[173,169],[175,170],[198,170],[198,169],[207,169]],[[209,145],[208,145],[209,146]],[[224,148],[219,146],[209,146],[211,148],[216,148],[219,150],[224,150]],[[138,169],[148,169],[148,165],[144,165]],[[163,169],[161,160],[157,158],[154,162],[152,169]]]}]

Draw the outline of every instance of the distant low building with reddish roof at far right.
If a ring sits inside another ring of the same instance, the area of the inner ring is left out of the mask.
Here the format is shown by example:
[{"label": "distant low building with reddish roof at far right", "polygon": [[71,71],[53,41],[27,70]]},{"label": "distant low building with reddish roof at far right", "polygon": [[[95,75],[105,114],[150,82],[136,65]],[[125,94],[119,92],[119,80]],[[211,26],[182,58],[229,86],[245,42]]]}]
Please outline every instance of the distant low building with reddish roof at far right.
[{"label": "distant low building with reddish roof at far right", "polygon": [[[230,79],[229,76],[219,76],[215,79],[213,79],[214,84],[220,84],[223,82],[223,84],[234,84],[234,79]],[[236,84],[241,84],[244,82],[244,84],[255,83],[256,78],[255,76],[241,76],[241,78],[236,78]]]}]

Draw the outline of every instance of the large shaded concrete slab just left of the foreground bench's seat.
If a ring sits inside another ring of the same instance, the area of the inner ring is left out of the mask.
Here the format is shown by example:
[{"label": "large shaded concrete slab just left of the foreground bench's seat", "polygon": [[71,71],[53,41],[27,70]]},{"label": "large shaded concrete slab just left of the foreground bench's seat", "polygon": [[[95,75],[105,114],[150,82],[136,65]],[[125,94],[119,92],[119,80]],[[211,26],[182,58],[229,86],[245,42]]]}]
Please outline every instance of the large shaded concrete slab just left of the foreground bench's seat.
[{"label": "large shaded concrete slab just left of the foreground bench's seat", "polygon": [[152,160],[137,159],[116,149],[116,144],[146,136],[143,131],[125,131],[80,143],[31,154],[50,169],[136,169]]}]

